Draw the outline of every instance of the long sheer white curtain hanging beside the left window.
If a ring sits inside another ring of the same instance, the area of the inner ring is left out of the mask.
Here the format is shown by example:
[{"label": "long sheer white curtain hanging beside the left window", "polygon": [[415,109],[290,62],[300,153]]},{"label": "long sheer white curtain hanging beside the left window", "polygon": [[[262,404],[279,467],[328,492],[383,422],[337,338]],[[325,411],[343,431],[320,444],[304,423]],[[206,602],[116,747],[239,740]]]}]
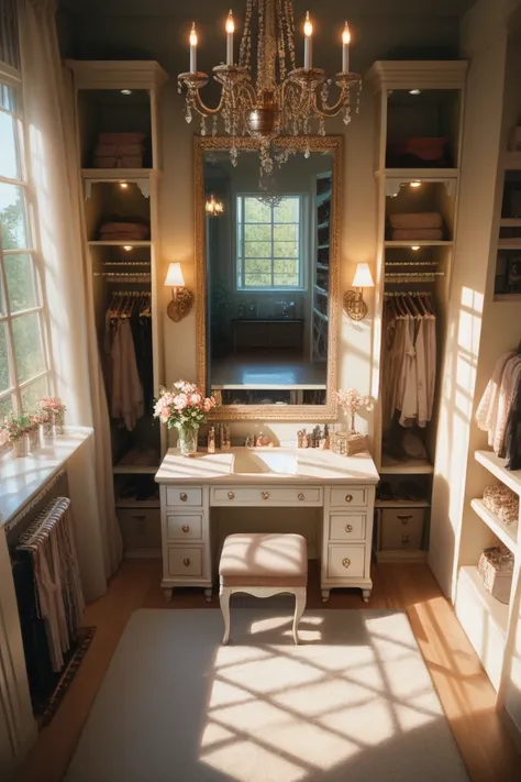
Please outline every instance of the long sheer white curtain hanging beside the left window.
[{"label": "long sheer white curtain hanging beside the left window", "polygon": [[56,390],[67,405],[68,422],[95,429],[91,458],[85,460],[85,502],[74,508],[84,588],[92,599],[106,591],[107,579],[118,568],[122,541],[84,240],[74,99],[59,57],[55,0],[19,0],[19,9],[24,111]]}]

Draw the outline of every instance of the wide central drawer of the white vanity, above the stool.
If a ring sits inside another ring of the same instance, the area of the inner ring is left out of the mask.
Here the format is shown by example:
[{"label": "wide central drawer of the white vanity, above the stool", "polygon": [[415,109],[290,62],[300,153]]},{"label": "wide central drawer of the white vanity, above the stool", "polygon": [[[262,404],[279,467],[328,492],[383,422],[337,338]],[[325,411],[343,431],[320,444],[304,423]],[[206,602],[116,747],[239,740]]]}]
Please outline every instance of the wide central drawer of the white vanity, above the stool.
[{"label": "wide central drawer of the white vanity, above the stool", "polygon": [[210,505],[322,505],[320,486],[228,486],[212,488]]}]

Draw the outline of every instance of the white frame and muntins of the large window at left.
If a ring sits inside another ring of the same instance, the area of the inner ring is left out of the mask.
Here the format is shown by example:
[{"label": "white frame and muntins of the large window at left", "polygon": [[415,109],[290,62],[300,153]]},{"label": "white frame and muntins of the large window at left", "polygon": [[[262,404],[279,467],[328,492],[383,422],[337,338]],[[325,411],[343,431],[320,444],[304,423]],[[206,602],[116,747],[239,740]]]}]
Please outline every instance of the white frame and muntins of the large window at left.
[{"label": "white frame and muntins of the large window at left", "polygon": [[[0,389],[0,405],[5,400],[11,401],[13,415],[21,415],[27,410],[23,407],[23,393],[30,386],[46,381],[45,394],[53,393],[53,374],[51,368],[51,352],[48,341],[48,317],[45,305],[43,276],[42,276],[42,260],[37,247],[37,219],[36,209],[33,198],[33,190],[30,175],[30,161],[27,157],[27,128],[23,117],[23,84],[20,73],[12,66],[5,63],[0,63],[0,85],[5,85],[13,90],[16,99],[15,107],[12,110],[4,109],[0,106],[0,112],[8,114],[14,120],[14,146],[18,155],[19,177],[10,178],[0,175],[0,184],[7,184],[19,187],[23,197],[23,208],[25,217],[26,243],[23,249],[4,250],[2,247],[0,236],[0,289],[3,294],[3,310],[0,310],[0,329],[5,335],[7,364],[8,364],[8,388]],[[32,286],[35,294],[36,304],[33,307],[11,311],[9,299],[8,275],[5,271],[5,260],[16,255],[27,256],[31,260],[31,277]],[[14,351],[14,330],[13,323],[23,317],[35,315],[38,323],[40,334],[40,354],[43,361],[43,370],[32,375],[29,379],[20,379],[20,366],[16,361]],[[0,415],[0,419],[2,416]]]}]

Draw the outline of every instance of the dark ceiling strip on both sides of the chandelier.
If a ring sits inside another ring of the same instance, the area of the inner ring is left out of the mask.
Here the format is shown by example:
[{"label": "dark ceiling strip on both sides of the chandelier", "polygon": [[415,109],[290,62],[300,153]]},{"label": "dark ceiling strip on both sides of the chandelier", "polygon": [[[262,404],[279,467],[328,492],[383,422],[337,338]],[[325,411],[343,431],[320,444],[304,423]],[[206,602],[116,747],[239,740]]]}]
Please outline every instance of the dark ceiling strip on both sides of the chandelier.
[{"label": "dark ceiling strip on both sides of the chandelier", "polygon": [[[58,0],[59,8],[68,13],[102,16],[188,16],[218,18],[220,10],[228,12],[230,4],[242,12],[245,0]],[[347,15],[414,15],[414,16],[463,16],[476,0],[295,0],[295,14],[303,15],[306,10],[317,14]],[[344,5],[341,11],[339,5]]]}]

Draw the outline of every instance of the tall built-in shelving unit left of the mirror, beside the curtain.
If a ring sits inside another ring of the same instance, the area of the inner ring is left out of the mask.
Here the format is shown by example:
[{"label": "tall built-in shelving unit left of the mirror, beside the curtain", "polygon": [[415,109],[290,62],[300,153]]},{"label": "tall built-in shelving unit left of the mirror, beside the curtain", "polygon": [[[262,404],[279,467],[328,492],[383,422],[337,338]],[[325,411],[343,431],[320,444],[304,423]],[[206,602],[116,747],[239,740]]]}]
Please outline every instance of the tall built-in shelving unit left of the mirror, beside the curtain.
[{"label": "tall built-in shelving unit left of the mirror, beside the curtain", "polygon": [[[91,302],[109,412],[107,311],[117,295],[138,302],[132,307],[131,319],[144,412],[135,426],[122,426],[111,418],[117,511],[128,553],[138,555],[141,549],[151,552],[151,541],[155,541],[154,549],[160,548],[157,498],[134,500],[129,492],[134,484],[137,491],[144,481],[153,481],[166,450],[165,433],[153,419],[152,404],[164,382],[157,307],[162,173],[158,98],[167,75],[157,63],[147,60],[68,60],[67,66],[73,71],[76,92]],[[147,302],[149,306],[145,306]],[[122,482],[126,495],[120,498]],[[144,515],[140,515],[142,511]]]}]

